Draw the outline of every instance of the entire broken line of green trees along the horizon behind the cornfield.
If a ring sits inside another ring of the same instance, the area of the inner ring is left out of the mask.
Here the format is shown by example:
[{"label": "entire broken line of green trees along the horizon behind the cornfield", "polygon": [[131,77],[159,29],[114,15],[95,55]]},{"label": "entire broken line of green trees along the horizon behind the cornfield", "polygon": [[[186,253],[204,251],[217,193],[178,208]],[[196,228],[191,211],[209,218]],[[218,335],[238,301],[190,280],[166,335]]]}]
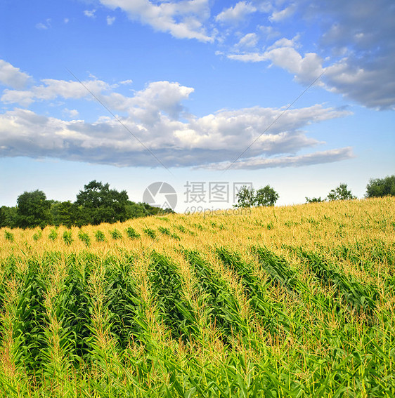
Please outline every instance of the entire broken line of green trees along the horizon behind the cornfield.
[{"label": "entire broken line of green trees along the horizon behind the cornfield", "polygon": [[[371,179],[366,186],[366,198],[395,196],[395,175],[385,178]],[[237,194],[238,203],[235,207],[274,206],[279,195],[270,185],[254,190],[242,187]],[[306,197],[306,203],[356,199],[347,188],[340,184],[328,193],[326,198]],[[130,201],[126,191],[118,192],[110,189],[108,183],[96,180],[84,185],[77,199],[72,201],[54,201],[46,199],[40,190],[23,192],[17,199],[17,206],[0,207],[0,227],[44,228],[46,225],[98,225],[101,223],[117,223],[130,218],[145,217],[174,213],[170,208],[162,209],[146,203]]]}]

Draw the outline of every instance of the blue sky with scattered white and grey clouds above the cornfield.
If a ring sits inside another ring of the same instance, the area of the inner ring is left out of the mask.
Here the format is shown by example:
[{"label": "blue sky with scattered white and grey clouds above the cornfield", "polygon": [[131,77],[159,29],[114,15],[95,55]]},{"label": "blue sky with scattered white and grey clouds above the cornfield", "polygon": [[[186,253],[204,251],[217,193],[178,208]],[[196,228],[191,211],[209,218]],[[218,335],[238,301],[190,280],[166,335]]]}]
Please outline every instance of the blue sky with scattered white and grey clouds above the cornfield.
[{"label": "blue sky with scattered white and grey clouds above the cornfield", "polygon": [[395,172],[394,20],[384,0],[3,0],[0,204],[93,179],[135,201],[165,181],[176,211],[230,207],[215,182],[363,197]]}]

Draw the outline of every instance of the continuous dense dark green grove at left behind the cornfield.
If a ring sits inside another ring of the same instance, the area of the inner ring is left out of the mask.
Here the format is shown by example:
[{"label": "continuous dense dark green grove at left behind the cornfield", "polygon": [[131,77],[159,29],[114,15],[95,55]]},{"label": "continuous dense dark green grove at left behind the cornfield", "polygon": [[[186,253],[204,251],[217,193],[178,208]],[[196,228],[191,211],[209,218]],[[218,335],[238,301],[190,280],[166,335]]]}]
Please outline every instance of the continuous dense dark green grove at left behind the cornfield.
[{"label": "continuous dense dark green grove at left behind the cornfield", "polygon": [[82,227],[162,213],[174,212],[170,208],[162,209],[130,201],[126,191],[118,192],[110,189],[108,183],[93,180],[84,185],[84,190],[79,191],[74,202],[48,200],[40,190],[23,192],[17,199],[17,206],[1,206],[0,227]]}]

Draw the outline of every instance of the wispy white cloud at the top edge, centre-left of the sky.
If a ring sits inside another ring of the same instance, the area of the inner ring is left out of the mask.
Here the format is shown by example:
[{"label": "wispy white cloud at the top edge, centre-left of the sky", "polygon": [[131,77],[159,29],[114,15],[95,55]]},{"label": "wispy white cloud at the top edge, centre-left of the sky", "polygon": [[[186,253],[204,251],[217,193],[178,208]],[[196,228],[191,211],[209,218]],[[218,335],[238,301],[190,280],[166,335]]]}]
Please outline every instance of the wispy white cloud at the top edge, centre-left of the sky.
[{"label": "wispy white cloud at the top edge, centre-left of the sky", "polygon": [[208,0],[163,1],[100,0],[109,8],[121,8],[132,20],[141,20],[160,32],[169,32],[178,39],[197,39],[211,42],[203,22],[210,15]]}]

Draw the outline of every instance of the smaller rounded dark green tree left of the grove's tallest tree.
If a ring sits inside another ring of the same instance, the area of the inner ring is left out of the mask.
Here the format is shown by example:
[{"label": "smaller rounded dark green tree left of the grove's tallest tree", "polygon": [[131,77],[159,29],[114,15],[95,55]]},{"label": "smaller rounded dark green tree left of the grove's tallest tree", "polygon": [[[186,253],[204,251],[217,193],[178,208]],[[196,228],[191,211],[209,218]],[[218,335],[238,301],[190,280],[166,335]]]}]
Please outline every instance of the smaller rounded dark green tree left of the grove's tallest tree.
[{"label": "smaller rounded dark green tree left of the grove's tallest tree", "polygon": [[44,228],[51,224],[51,201],[46,199],[44,192],[35,190],[23,192],[17,199],[16,224],[21,228]]}]

